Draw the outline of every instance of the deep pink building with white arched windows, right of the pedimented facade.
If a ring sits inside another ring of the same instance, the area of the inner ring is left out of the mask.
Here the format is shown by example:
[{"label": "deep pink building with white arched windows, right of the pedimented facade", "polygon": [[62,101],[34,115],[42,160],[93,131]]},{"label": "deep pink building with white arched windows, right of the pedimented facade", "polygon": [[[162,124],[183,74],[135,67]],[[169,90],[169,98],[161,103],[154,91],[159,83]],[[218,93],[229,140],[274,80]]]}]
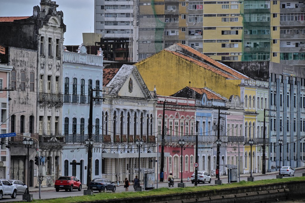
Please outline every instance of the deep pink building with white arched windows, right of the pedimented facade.
[{"label": "deep pink building with white arched windows, right of the pedimented facade", "polygon": [[[195,99],[158,96],[157,110],[157,134],[158,141],[162,140],[163,102],[165,104],[165,143],[164,152],[169,157],[164,157],[164,180],[170,173],[175,178],[181,178],[181,146],[179,139],[185,140],[182,149],[182,178],[191,177],[194,173],[196,108]],[[170,102],[170,103],[168,103]],[[159,146],[161,152],[162,146]],[[161,164],[161,158],[159,163]],[[159,166],[160,167],[160,166]]]}]

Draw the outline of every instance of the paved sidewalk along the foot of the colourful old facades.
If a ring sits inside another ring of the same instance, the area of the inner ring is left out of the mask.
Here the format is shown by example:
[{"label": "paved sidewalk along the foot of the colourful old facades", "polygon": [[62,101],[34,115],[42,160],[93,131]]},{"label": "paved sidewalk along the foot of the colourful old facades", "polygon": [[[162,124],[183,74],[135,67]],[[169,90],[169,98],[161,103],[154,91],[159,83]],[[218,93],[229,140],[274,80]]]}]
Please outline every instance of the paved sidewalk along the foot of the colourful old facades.
[{"label": "paved sidewalk along the foot of the colourful old facades", "polygon": [[[298,169],[305,169],[305,167],[298,167],[298,168],[295,168],[296,170]],[[252,173],[252,176],[264,176],[264,175],[272,175],[272,174],[278,174],[278,171],[272,171],[272,172],[266,172],[266,174],[263,174],[263,173]],[[240,174],[240,177],[247,177],[247,176],[250,176],[250,173],[244,173],[244,174]],[[228,175],[226,176],[220,176],[220,178],[228,178]],[[217,178],[215,176],[212,176],[212,180],[216,180]],[[175,182],[180,182],[181,178],[175,178]],[[184,182],[187,182],[187,178],[182,178],[182,180]],[[189,180],[191,180],[191,177],[189,177]],[[160,182],[159,183],[167,183],[167,180],[165,180],[164,182]],[[116,184],[116,183],[115,183]],[[116,184],[117,185],[117,184]],[[123,187],[124,184],[120,184],[120,186]],[[83,189],[87,188],[87,185],[86,184],[83,184]],[[52,187],[41,187],[41,191],[48,191],[48,190],[55,190],[54,186]],[[37,187],[29,187],[29,191],[30,192],[38,192],[39,191],[39,188]]]}]

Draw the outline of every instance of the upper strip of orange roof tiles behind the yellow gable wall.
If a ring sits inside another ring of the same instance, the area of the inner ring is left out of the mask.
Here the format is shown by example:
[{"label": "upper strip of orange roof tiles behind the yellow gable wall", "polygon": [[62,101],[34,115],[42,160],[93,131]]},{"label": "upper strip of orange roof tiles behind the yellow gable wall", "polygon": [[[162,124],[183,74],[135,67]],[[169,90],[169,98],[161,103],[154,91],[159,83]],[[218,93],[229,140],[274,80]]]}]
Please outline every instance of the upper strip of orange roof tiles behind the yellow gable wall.
[{"label": "upper strip of orange roof tiles behind the yellow gable wall", "polygon": [[246,77],[245,75],[242,75],[240,74],[239,72],[235,71],[234,69],[231,69],[227,66],[224,66],[223,64],[221,64],[220,62],[218,61],[215,61],[214,59],[211,59],[210,57],[208,57],[207,55],[204,55],[200,52],[198,52],[197,50],[187,46],[187,45],[182,45],[182,44],[179,44],[179,43],[176,43],[178,46],[180,46],[181,48],[184,48],[186,49],[187,51],[189,52],[192,52],[193,54],[203,58],[204,60],[206,60],[208,63],[210,64],[213,64],[214,66],[216,66],[217,68],[219,69],[222,69],[223,71],[239,78],[239,79],[249,79],[249,77]]}]

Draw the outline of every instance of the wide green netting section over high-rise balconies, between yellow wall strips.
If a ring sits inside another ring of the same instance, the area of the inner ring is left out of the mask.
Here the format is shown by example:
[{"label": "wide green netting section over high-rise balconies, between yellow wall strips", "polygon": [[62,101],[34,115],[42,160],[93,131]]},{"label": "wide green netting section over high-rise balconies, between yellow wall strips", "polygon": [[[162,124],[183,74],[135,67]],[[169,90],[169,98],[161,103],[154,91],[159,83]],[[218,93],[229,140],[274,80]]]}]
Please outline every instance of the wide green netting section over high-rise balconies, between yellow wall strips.
[{"label": "wide green netting section over high-rise balconies, between yellow wall strips", "polygon": [[270,59],[270,1],[243,1],[242,61]]}]

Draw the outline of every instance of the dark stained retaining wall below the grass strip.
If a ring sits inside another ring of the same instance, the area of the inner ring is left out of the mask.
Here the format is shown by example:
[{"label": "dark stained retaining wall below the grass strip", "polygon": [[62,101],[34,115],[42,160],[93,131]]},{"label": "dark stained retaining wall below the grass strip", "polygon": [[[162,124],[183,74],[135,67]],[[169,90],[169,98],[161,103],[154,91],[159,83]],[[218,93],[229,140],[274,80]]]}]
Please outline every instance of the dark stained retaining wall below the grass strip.
[{"label": "dark stained retaining wall below the grass strip", "polygon": [[304,197],[305,181],[289,183],[274,183],[266,186],[239,187],[218,191],[202,191],[186,194],[173,194],[168,196],[154,196],[143,198],[126,198],[95,202],[133,203],[245,203],[245,202],[275,202],[280,200]]}]

